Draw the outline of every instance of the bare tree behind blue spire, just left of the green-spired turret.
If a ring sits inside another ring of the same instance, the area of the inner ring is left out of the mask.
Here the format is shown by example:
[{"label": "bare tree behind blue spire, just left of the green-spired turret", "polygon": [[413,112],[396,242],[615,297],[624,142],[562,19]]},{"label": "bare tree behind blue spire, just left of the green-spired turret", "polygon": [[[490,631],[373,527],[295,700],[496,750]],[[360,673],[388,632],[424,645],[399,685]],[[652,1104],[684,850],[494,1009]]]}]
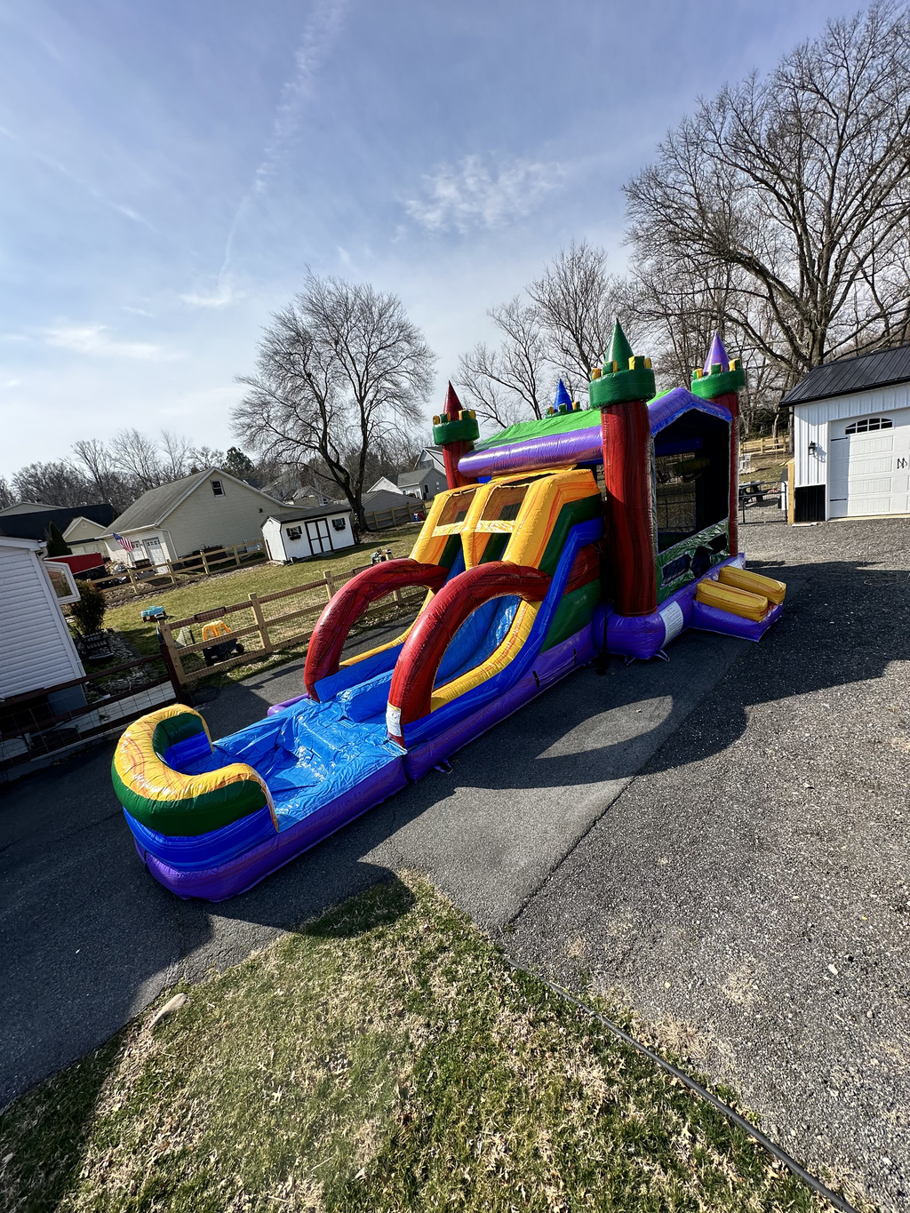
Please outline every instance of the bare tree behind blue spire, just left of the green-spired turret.
[{"label": "bare tree behind blue spire, just left of the green-spired turret", "polygon": [[561,249],[528,286],[528,295],[538,309],[550,361],[573,398],[587,387],[591,368],[603,360],[616,317],[630,337],[635,335],[629,283],[609,274],[607,254],[586,240]]}]

